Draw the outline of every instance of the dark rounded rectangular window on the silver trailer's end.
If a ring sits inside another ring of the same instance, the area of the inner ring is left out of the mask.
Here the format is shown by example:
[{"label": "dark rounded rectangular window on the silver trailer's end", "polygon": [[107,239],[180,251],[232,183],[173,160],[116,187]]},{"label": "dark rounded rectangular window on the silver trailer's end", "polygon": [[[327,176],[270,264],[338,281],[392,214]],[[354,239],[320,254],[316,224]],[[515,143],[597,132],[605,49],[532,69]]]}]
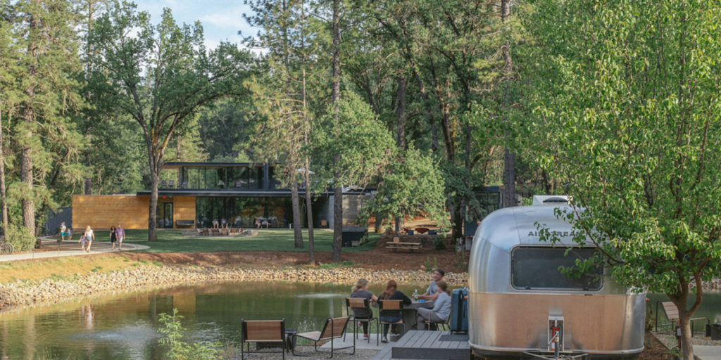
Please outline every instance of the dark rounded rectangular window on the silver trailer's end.
[{"label": "dark rounded rectangular window on the silver trailer's end", "polygon": [[513,287],[517,289],[601,289],[603,269],[580,279],[565,276],[560,266],[573,266],[577,258],[589,258],[597,251],[593,248],[576,248],[565,256],[565,248],[516,248],[511,261]]}]

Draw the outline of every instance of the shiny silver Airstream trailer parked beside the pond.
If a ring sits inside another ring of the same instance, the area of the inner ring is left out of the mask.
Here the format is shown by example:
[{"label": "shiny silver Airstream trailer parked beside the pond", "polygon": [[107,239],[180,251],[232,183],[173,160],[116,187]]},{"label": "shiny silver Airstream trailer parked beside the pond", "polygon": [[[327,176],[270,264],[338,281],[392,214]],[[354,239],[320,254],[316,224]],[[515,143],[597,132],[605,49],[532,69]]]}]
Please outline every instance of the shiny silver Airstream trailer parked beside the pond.
[{"label": "shiny silver Airstream trailer parked beside the pond", "polygon": [[[643,351],[645,294],[631,292],[598,269],[581,279],[559,272],[594,248],[575,248],[558,204],[492,212],[476,230],[469,263],[469,343],[481,358],[586,354],[637,357]],[[567,207],[567,205],[560,205]],[[542,229],[561,244],[541,241]],[[556,354],[558,354],[556,353]]]}]

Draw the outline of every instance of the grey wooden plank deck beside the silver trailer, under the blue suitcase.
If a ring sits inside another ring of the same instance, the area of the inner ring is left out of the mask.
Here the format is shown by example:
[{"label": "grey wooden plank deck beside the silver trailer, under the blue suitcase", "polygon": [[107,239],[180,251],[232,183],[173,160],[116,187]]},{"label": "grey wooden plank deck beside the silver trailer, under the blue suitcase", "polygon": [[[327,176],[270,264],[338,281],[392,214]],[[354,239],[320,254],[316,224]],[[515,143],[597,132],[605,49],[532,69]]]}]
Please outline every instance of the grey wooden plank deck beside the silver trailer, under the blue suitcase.
[{"label": "grey wooden plank deck beside the silver trailer, under the blue suitcase", "polygon": [[468,360],[471,348],[468,336],[448,331],[410,330],[399,341],[389,343],[373,360],[439,359]]}]

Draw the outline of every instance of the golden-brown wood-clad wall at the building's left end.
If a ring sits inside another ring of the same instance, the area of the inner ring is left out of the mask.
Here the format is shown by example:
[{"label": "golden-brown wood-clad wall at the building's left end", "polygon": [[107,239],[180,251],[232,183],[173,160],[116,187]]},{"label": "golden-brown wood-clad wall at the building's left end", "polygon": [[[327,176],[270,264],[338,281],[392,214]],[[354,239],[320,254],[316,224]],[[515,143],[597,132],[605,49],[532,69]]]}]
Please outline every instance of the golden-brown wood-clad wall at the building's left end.
[{"label": "golden-brown wood-clad wall at the building's left end", "polygon": [[147,229],[149,202],[150,197],[136,195],[74,195],[73,228],[110,229],[120,224],[125,229]]}]

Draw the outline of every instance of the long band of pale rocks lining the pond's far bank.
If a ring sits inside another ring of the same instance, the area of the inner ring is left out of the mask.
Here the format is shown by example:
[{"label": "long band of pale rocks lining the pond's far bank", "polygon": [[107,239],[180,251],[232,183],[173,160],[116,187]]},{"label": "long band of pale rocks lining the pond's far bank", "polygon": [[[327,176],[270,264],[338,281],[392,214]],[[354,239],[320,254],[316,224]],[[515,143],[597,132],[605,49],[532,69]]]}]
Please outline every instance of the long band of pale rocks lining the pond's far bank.
[{"label": "long band of pale rocks lining the pond's far bank", "polygon": [[[40,282],[17,281],[0,284],[0,310],[6,307],[50,304],[76,297],[150,287],[230,281],[353,284],[361,277],[368,279],[371,283],[383,284],[388,279],[395,279],[400,283],[425,283],[430,281],[431,276],[425,271],[377,271],[355,267],[242,269],[143,265],[110,273],[77,274],[74,279],[45,279]],[[466,286],[467,274],[446,274],[446,281],[454,287]]]}]

